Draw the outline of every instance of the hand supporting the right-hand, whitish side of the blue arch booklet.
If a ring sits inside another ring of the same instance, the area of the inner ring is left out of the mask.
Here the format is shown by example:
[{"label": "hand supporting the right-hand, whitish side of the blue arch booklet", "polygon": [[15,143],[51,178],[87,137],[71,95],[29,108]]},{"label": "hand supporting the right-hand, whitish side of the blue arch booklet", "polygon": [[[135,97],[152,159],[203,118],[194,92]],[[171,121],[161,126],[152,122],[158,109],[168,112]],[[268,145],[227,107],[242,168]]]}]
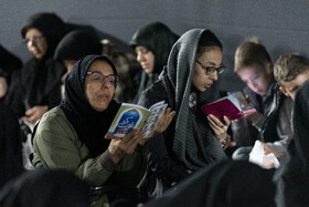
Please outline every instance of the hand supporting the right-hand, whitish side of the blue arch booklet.
[{"label": "hand supporting the right-hand, whitish side of the blue arch booklet", "polygon": [[[153,133],[152,137],[154,137],[158,134],[164,132],[168,128],[168,126],[170,125],[170,123],[172,122],[174,115],[175,115],[175,111],[171,111],[171,108],[168,107],[166,110],[166,112],[162,114],[162,116],[161,116],[161,118],[160,118],[160,121],[159,121],[159,123],[158,123],[158,125],[157,125],[157,127],[154,130],[154,133]],[[140,145],[145,145],[145,143],[147,143],[147,141],[151,139],[152,137],[150,137],[150,138],[142,138],[139,142],[139,144]]]}]

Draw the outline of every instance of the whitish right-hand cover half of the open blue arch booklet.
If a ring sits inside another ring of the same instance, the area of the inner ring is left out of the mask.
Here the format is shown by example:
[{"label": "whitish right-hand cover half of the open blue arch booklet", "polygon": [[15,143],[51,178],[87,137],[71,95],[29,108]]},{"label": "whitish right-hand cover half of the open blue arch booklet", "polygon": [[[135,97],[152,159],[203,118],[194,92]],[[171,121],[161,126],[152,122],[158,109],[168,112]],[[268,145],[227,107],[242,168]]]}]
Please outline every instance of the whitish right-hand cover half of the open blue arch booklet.
[{"label": "whitish right-hand cover half of the open blue arch booklet", "polygon": [[145,138],[151,137],[153,135],[153,132],[157,128],[158,123],[167,107],[168,104],[164,104],[164,102],[162,101],[158,102],[149,108],[150,113],[146,122],[141,126],[141,130],[145,132]]}]

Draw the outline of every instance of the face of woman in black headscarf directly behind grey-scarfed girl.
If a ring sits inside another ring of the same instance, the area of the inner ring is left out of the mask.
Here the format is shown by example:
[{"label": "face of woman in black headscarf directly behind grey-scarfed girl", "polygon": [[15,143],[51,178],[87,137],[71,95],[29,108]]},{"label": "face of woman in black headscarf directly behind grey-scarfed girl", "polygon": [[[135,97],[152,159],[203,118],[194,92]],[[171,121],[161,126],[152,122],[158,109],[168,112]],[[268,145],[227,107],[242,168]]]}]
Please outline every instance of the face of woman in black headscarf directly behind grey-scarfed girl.
[{"label": "face of woman in black headscarf directly behind grey-scarfed girl", "polygon": [[137,61],[146,73],[152,73],[154,69],[154,54],[145,46],[135,48]]}]

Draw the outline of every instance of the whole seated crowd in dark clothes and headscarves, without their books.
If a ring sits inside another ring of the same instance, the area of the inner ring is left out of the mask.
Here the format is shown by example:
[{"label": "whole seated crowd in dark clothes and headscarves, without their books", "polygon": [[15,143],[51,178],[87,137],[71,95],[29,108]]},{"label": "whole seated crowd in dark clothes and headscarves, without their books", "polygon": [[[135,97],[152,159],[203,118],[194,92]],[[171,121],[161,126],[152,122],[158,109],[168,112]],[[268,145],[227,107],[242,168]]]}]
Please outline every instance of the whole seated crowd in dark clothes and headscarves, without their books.
[{"label": "whole seated crowd in dark clothes and headscarves, without their books", "polygon": [[[0,48],[0,206],[309,205],[305,55],[238,45],[234,73],[256,112],[228,120],[201,110],[225,95],[224,45],[209,29],[150,22],[129,42],[136,56],[55,13],[31,15],[21,37],[24,64]],[[151,137],[105,138],[121,103],[160,101]]]}]

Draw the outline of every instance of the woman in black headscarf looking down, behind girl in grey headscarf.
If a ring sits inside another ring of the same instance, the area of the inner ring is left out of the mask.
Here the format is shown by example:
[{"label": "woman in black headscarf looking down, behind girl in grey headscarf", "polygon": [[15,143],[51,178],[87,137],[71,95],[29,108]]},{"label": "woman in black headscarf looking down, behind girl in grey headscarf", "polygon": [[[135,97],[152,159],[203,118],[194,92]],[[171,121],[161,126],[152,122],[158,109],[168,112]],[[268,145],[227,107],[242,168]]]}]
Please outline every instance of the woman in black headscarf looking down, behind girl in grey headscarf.
[{"label": "woman in black headscarf looking down, behind girl in grey headscarf", "polygon": [[136,51],[137,61],[141,64],[142,71],[136,76],[138,90],[134,103],[138,102],[143,90],[157,81],[178,39],[179,35],[161,22],[148,23],[135,32],[130,45]]}]

